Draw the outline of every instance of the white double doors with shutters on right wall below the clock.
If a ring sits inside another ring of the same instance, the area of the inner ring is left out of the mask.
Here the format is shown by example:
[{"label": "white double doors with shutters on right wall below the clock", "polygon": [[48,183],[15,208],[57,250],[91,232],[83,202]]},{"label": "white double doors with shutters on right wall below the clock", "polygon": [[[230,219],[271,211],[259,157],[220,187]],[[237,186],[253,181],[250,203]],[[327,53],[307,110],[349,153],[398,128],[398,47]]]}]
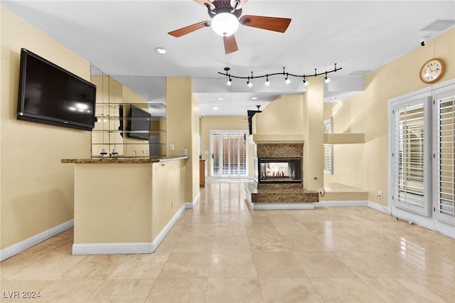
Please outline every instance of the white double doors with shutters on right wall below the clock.
[{"label": "white double doors with shutters on right wall below the clock", "polygon": [[455,80],[390,102],[390,212],[455,238]]}]

